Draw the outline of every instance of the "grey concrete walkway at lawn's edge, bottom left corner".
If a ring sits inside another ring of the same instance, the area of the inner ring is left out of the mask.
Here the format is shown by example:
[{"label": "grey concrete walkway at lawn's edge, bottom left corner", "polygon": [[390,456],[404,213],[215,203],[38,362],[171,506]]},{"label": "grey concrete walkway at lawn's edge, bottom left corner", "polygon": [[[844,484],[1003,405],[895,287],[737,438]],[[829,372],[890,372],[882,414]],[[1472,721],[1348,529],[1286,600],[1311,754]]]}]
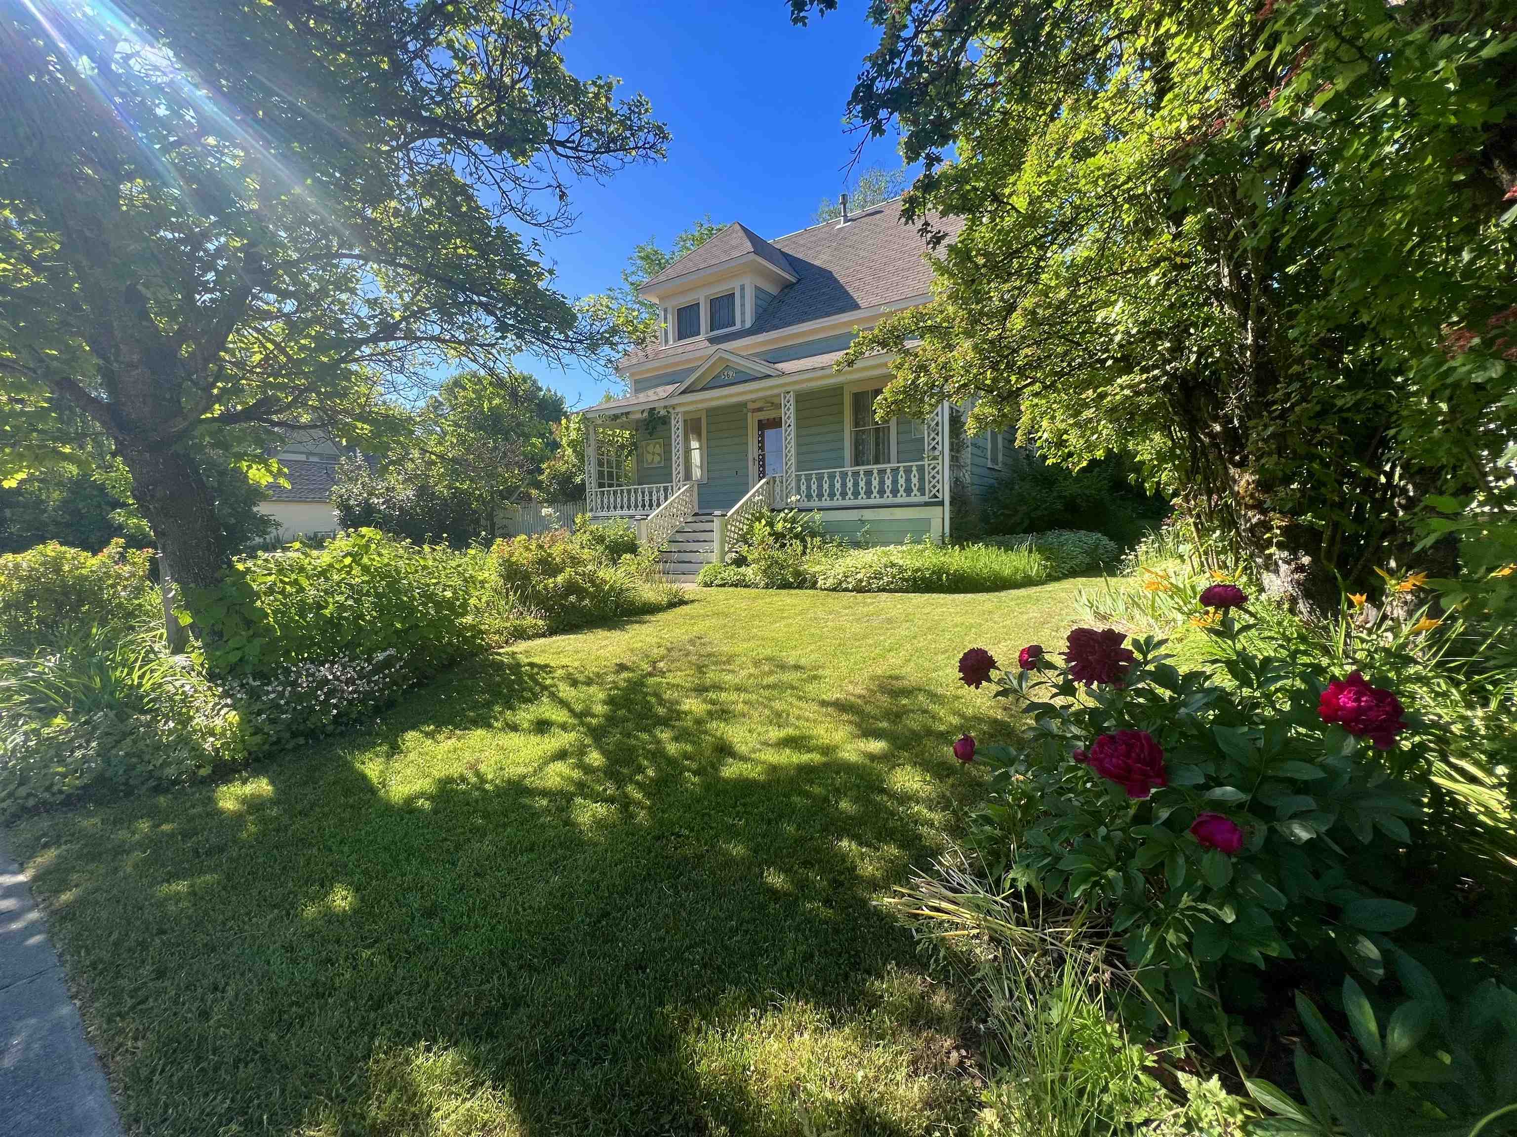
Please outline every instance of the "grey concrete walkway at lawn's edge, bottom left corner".
[{"label": "grey concrete walkway at lawn's edge, bottom left corner", "polygon": [[0,1131],[120,1137],[100,1060],[0,829]]}]

